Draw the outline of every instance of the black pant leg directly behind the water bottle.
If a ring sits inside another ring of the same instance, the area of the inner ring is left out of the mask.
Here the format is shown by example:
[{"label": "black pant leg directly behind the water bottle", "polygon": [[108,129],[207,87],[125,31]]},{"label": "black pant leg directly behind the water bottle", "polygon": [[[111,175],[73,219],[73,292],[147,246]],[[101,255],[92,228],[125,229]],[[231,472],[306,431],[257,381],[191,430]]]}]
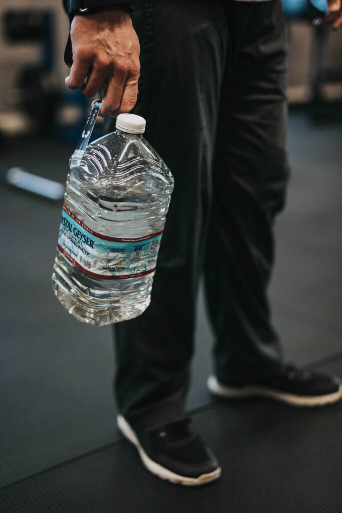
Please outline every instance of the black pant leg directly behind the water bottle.
[{"label": "black pant leg directly behind the water bottle", "polygon": [[211,166],[228,32],[220,2],[145,0],[134,13],[142,47],[133,112],[175,177],[151,304],[115,326],[119,409],[151,426],[182,417],[203,267]]}]

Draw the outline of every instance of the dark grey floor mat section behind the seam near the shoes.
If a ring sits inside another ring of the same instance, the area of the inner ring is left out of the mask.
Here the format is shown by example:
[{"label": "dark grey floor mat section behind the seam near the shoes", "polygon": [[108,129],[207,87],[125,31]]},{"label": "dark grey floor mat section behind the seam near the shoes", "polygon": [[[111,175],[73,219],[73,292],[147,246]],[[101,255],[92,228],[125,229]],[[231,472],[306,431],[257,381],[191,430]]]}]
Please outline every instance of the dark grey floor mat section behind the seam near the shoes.
[{"label": "dark grey floor mat section behind the seam near the shoes", "polygon": [[[338,202],[341,126],[309,130],[290,119],[294,166],[288,209],[277,223],[271,287],[274,321],[288,357],[308,364],[341,349]],[[338,144],[337,144],[338,143]],[[317,150],[309,151],[309,145]],[[0,164],[64,181],[73,146],[9,145]],[[320,151],[324,149],[323,155]],[[319,153],[319,155],[318,155]],[[329,165],[328,165],[329,157]],[[15,162],[13,162],[15,158]],[[0,486],[117,440],[110,328],[75,321],[54,298],[50,277],[62,204],[0,188],[2,308]],[[188,408],[211,403],[206,377],[213,336],[199,297],[197,350]]]}]

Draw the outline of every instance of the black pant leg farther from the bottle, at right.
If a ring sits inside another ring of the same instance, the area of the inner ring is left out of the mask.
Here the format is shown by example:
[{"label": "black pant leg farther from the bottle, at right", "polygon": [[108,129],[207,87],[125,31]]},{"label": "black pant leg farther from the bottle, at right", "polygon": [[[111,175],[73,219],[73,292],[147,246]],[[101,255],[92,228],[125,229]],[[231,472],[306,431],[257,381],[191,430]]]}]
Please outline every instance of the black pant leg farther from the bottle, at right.
[{"label": "black pant leg farther from the bottle, at right", "polygon": [[280,0],[230,2],[227,21],[233,60],[220,106],[205,274],[216,373],[245,382],[283,359],[267,286],[288,179],[286,30]]}]

